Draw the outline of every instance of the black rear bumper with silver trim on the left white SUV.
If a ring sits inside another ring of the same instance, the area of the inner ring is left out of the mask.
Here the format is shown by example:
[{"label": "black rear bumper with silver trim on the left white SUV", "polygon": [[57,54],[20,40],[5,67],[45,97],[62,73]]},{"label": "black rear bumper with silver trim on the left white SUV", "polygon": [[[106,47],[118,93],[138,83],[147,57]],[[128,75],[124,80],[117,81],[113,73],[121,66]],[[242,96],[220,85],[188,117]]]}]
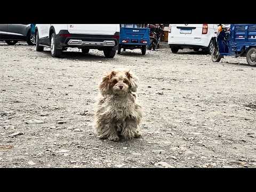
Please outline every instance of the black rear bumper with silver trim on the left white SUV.
[{"label": "black rear bumper with silver trim on the left white SUV", "polygon": [[[64,36],[63,36],[64,35]],[[63,47],[86,47],[88,49],[118,49],[119,33],[115,35],[88,35],[70,34],[67,30],[61,30],[56,35],[57,49]]]}]

